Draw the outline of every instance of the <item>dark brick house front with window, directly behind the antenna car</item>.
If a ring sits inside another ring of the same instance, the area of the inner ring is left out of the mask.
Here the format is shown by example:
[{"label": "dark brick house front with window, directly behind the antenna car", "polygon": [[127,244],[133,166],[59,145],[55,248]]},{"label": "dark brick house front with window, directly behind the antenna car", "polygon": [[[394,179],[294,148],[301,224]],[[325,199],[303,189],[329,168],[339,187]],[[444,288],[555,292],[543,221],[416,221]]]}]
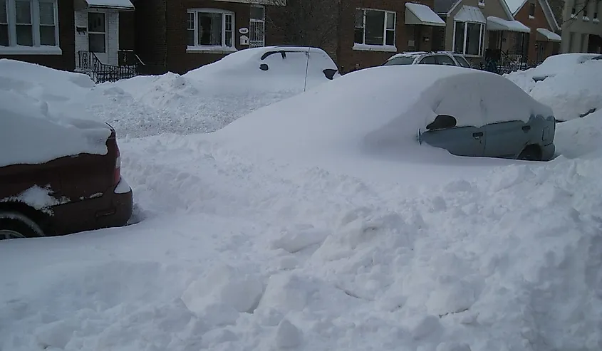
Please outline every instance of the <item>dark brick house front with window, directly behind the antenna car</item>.
[{"label": "dark brick house front with window, directly behind the antenna car", "polygon": [[136,53],[147,73],[185,73],[244,48],[278,43],[271,0],[137,0]]}]

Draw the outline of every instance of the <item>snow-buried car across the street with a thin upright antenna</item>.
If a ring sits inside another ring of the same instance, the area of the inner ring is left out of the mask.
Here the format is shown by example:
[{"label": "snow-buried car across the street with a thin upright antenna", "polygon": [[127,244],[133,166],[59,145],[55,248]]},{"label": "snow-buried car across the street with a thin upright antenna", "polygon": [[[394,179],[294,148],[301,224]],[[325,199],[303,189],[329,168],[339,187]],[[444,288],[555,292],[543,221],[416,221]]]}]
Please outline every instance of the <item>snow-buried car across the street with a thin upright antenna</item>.
[{"label": "snow-buried car across the street with a thin upright antenna", "polygon": [[[265,46],[230,53],[221,60],[199,67],[184,75],[195,80],[224,80],[224,77],[244,78],[246,83],[270,84],[272,80],[284,85],[315,86],[338,78],[338,68],[321,48],[308,46]],[[251,82],[249,82],[251,81]]]}]

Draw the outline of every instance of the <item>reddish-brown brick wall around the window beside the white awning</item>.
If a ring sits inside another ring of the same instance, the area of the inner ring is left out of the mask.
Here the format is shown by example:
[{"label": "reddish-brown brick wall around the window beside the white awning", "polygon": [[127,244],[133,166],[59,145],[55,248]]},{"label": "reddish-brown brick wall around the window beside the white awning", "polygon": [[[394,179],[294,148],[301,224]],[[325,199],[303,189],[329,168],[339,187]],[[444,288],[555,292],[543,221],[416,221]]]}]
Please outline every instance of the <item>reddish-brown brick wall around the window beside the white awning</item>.
[{"label": "reddish-brown brick wall around the window beside the white awning", "polygon": [[[395,46],[398,52],[408,51],[409,40],[420,40],[420,50],[430,51],[432,45],[432,27],[430,26],[406,26],[405,21],[405,0],[348,0],[348,6],[344,6],[339,28],[338,42],[338,66],[342,73],[350,72],[358,68],[368,68],[382,65],[388,58],[395,53],[381,51],[357,51],[353,50],[353,33],[355,28],[356,8],[378,9],[395,11]],[[430,6],[432,0],[411,1]],[[419,27],[419,28],[416,28]],[[418,31],[415,31],[418,29]],[[415,33],[420,38],[415,38]],[[429,41],[423,41],[427,37]]]}]

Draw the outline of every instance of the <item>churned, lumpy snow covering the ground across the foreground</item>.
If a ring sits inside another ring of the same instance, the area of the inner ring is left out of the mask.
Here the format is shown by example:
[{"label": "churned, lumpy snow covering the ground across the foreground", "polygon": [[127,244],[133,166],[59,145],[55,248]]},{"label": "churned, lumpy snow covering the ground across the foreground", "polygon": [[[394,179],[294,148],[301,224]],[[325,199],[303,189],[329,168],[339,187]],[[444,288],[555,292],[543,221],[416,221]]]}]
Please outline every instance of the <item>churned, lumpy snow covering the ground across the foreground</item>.
[{"label": "churned, lumpy snow covering the ground across the foreground", "polygon": [[129,83],[79,107],[120,119],[144,220],[0,242],[0,350],[602,349],[602,112],[552,162],[395,184],[182,135],[186,85],[140,122]]}]

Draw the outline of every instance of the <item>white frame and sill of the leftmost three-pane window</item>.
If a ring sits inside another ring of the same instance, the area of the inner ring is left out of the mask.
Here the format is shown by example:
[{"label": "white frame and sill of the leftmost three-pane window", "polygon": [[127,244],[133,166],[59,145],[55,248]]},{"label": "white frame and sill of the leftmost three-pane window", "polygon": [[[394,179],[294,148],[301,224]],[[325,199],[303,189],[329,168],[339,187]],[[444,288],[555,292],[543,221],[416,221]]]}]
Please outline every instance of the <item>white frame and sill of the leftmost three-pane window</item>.
[{"label": "white frame and sill of the leftmost three-pane window", "polygon": [[[6,16],[9,25],[9,46],[0,46],[2,55],[61,55],[61,43],[59,42],[59,23],[58,23],[58,0],[30,0],[31,4],[31,32],[33,46],[22,46],[16,43],[16,0],[6,1]],[[50,2],[54,9],[54,35],[56,45],[40,44],[40,3]]]}]

